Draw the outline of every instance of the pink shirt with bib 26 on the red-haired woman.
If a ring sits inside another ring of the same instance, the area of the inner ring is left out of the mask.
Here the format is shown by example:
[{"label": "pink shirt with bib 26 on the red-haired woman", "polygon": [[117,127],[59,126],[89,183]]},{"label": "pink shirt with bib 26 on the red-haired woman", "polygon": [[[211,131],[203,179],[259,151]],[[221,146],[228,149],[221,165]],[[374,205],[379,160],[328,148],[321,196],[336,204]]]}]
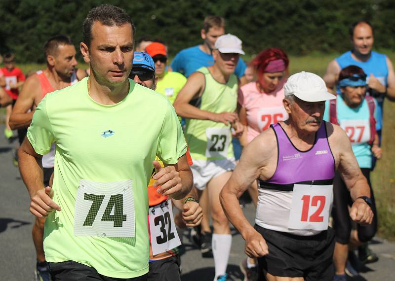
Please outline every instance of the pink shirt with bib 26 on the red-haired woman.
[{"label": "pink shirt with bib 26 on the red-haired woman", "polygon": [[288,119],[282,100],[284,99],[283,79],[272,93],[260,93],[256,82],[250,82],[240,88],[238,103],[245,108],[247,115],[247,140],[250,142],[271,124]]}]

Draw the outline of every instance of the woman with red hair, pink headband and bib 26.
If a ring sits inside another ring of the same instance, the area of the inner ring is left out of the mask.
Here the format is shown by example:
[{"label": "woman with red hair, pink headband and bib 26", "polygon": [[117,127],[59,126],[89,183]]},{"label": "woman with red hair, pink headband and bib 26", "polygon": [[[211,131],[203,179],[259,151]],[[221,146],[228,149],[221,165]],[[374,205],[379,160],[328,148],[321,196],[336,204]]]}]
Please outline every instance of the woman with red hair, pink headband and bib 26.
[{"label": "woman with red hair, pink headband and bib 26", "polygon": [[[245,126],[239,138],[241,146],[247,145],[271,124],[288,119],[282,100],[284,84],[288,76],[288,56],[278,48],[269,48],[260,52],[249,64],[258,80],[240,87],[238,104],[240,122]],[[256,182],[248,188],[256,207],[258,186]],[[257,262],[252,258],[244,259],[240,264],[244,280],[258,278]]]}]

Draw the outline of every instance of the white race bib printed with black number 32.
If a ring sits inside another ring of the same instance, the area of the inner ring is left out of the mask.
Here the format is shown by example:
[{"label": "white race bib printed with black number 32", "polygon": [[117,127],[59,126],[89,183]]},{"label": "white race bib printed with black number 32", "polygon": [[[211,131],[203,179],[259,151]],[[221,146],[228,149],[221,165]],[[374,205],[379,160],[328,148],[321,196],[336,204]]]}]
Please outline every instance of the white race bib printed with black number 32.
[{"label": "white race bib printed with black number 32", "polygon": [[154,255],[163,253],[181,245],[171,208],[171,200],[150,208],[151,246]]}]

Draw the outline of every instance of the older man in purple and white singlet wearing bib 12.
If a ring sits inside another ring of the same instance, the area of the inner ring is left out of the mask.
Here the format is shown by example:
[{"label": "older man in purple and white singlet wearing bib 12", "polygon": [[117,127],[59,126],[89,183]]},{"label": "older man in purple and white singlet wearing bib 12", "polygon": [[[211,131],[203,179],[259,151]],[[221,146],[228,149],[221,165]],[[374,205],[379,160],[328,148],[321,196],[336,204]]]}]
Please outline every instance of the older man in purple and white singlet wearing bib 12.
[{"label": "older man in purple and white singlet wearing bib 12", "polygon": [[[325,101],[335,99],[314,73],[299,72],[285,83],[283,105],[289,119],[271,126],[243,150],[220,194],[226,215],[257,257],[259,280],[333,279],[334,234],[328,227],[332,182],[339,169],[354,201],[350,216],[371,223],[366,178],[358,168],[346,133],[322,120]],[[259,199],[252,227],[237,197],[258,180]]]}]

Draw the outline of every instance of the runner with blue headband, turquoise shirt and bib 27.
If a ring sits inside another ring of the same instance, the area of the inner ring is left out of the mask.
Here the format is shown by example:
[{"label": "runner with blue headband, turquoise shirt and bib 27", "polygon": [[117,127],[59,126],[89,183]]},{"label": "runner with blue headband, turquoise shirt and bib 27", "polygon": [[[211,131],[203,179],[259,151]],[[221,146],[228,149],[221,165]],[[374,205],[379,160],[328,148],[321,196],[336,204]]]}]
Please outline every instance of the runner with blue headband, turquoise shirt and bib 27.
[{"label": "runner with blue headband, turquoise shirt and bib 27", "polygon": [[[340,127],[348,135],[356,156],[358,166],[366,177],[370,187],[370,207],[374,213],[372,224],[357,226],[351,231],[351,221],[348,217],[352,200],[347,192],[345,182],[337,172],[333,182],[333,220],[336,236],[334,262],[336,280],[346,280],[345,267],[350,245],[356,247],[370,241],[377,231],[377,211],[370,183],[372,156],[381,158],[379,137],[376,128],[380,129],[381,118],[378,118],[377,102],[366,94],[366,74],[357,66],[348,66],[340,71],[339,85],[341,94],[336,100],[326,103],[324,120]],[[350,239],[351,233],[351,239]],[[350,248],[350,250],[354,250]]]}]

